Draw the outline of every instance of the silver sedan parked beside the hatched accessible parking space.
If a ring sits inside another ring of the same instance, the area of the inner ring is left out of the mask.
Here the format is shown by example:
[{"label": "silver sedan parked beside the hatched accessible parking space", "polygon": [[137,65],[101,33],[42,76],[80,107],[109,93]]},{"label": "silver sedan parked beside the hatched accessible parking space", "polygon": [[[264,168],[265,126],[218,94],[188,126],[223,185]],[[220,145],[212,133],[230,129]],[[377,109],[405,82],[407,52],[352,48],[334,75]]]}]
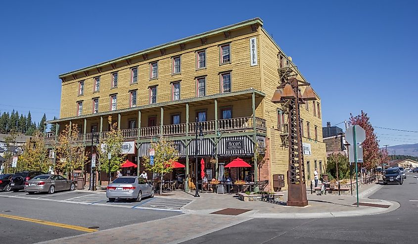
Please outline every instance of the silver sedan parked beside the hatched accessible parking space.
[{"label": "silver sedan parked beside the hatched accessible parking space", "polygon": [[154,188],[145,178],[138,176],[116,178],[106,189],[106,197],[111,202],[116,198],[141,201],[144,196],[154,197]]}]

